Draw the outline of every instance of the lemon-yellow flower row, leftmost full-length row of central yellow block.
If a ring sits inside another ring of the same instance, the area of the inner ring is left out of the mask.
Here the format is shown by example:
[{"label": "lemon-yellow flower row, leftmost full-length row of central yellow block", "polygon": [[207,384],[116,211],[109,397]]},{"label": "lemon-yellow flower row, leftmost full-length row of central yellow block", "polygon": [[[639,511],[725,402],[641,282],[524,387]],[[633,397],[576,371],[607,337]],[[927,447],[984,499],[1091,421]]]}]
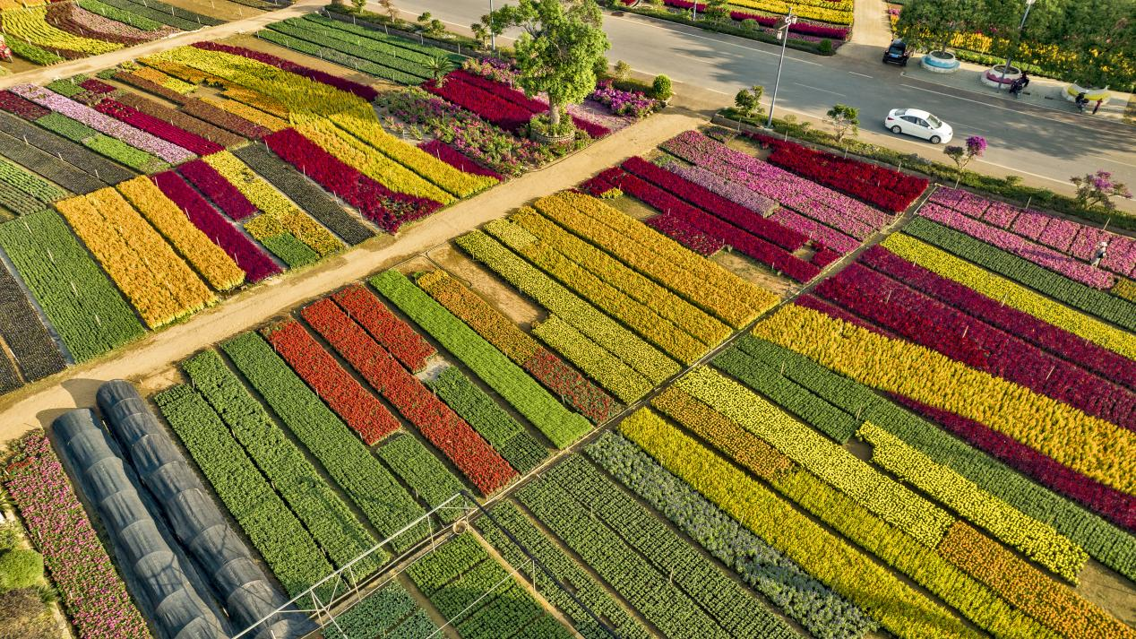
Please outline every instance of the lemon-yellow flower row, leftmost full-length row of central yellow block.
[{"label": "lemon-yellow flower row, leftmost full-length row of central yellow block", "polygon": [[[513,230],[526,233],[517,227]],[[488,266],[549,312],[559,315],[588,339],[651,380],[653,384],[662,383],[680,371],[678,364],[653,346],[600,313],[594,306],[582,300],[482,231],[461,235],[456,242],[474,259]]]}]

